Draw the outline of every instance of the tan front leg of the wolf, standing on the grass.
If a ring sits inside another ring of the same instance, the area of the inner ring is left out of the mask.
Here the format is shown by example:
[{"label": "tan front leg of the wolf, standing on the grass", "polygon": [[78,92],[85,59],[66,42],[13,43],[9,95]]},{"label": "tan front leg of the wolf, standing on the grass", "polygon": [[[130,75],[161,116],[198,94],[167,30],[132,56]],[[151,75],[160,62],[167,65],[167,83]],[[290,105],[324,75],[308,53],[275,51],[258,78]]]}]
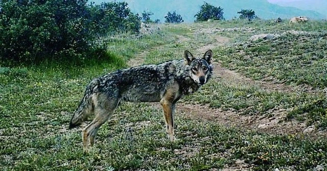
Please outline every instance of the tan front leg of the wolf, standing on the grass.
[{"label": "tan front leg of the wolf, standing on the grass", "polygon": [[174,135],[175,104],[173,104],[172,102],[170,102],[169,100],[166,100],[166,99],[162,99],[160,101],[160,104],[161,104],[162,108],[164,109],[168,138],[171,141],[174,141],[175,140],[175,135]]}]

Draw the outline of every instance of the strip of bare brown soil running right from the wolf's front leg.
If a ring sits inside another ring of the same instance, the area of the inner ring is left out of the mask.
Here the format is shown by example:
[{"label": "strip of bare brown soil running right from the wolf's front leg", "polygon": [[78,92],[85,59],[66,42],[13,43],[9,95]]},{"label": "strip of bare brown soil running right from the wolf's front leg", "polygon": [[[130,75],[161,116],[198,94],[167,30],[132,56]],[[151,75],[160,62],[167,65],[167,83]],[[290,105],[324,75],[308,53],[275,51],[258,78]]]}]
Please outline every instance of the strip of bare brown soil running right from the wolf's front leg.
[{"label": "strip of bare brown soil running right from the wolf's front leg", "polygon": [[267,118],[265,116],[242,116],[235,111],[214,109],[209,107],[209,105],[178,103],[176,106],[176,112],[188,117],[213,121],[228,127],[240,128],[242,130],[254,130],[280,135],[311,135],[314,133],[321,136],[325,134],[325,132],[314,131],[311,129],[313,127],[307,127],[306,124],[295,120],[284,121],[286,116],[286,110],[284,109],[272,111],[273,117]]}]

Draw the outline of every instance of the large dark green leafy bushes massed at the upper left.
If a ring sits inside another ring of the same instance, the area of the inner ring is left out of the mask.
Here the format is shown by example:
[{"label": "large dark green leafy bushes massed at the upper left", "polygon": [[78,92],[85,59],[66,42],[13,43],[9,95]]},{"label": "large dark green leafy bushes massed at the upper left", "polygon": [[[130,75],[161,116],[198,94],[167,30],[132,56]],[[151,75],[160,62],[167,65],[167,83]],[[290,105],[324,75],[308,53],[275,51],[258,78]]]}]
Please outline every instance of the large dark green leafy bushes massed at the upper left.
[{"label": "large dark green leafy bushes massed at the upper left", "polygon": [[138,32],[139,17],[127,3],[87,5],[77,1],[0,1],[0,60],[35,62],[81,59],[101,47],[97,37]]}]

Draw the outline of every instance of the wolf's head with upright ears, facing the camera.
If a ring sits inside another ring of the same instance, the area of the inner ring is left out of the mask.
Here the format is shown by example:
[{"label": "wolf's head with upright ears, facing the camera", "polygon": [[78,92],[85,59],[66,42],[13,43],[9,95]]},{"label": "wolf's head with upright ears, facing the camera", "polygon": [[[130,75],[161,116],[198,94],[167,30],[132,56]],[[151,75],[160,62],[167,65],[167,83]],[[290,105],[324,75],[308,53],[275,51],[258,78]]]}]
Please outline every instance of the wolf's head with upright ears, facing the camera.
[{"label": "wolf's head with upright ears, facing the camera", "polygon": [[194,82],[203,85],[212,75],[213,51],[208,50],[204,53],[202,58],[194,58],[193,54],[188,50],[184,52],[185,64],[190,66],[190,76]]}]

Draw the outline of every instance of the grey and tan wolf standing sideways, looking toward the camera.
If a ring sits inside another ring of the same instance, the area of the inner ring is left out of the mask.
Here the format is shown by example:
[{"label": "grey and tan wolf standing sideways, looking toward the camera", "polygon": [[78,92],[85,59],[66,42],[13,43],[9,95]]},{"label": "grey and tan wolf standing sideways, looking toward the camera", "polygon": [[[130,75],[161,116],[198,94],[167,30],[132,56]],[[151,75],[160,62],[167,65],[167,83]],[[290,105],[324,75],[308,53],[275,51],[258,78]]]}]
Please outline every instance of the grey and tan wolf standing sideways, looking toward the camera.
[{"label": "grey and tan wolf standing sideways, looking toward the camera", "polygon": [[213,52],[207,50],[202,58],[185,50],[184,59],[157,65],[121,69],[93,79],[86,87],[69,128],[80,125],[90,115],[94,120],[82,131],[83,147],[94,146],[98,129],[121,101],[160,102],[164,109],[166,131],[174,136],[176,102],[184,95],[196,92],[213,73]]}]

